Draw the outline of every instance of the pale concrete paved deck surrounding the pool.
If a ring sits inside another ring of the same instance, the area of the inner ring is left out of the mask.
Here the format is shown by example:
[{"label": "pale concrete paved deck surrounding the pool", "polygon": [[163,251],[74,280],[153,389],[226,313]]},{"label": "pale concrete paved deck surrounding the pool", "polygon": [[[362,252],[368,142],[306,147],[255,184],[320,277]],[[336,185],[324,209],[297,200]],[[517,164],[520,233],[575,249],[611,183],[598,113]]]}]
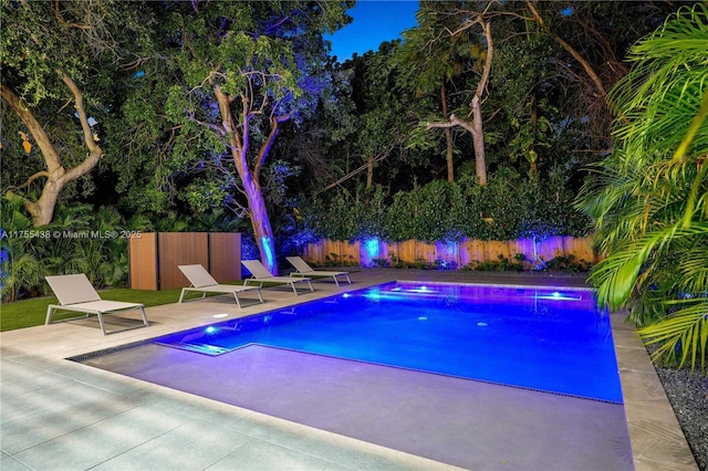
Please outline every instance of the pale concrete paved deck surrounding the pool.
[{"label": "pale concrete paved deck surrounding the pool", "polygon": [[[267,289],[264,304],[242,310],[226,296],[149,307],[149,328],[105,337],[95,320],[0,334],[0,469],[452,469],[64,358],[209,324],[216,314],[250,315],[392,280],[584,285],[582,276],[479,272],[363,270],[352,279],[340,289],[316,283],[314,293],[298,297]],[[633,328],[614,315],[613,332],[634,468],[697,469]],[[482,469],[529,468],[500,461]]]}]

